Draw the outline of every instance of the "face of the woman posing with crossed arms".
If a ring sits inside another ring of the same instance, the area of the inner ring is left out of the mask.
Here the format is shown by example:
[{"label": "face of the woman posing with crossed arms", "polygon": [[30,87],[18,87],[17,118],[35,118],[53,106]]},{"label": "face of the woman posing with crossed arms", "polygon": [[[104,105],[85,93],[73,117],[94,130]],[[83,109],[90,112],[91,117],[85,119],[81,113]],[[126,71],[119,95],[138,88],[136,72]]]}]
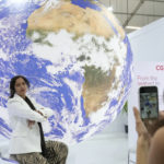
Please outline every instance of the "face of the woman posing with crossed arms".
[{"label": "face of the woman posing with crossed arms", "polygon": [[16,81],[15,81],[15,93],[17,95],[20,95],[21,97],[25,98],[25,94],[26,94],[26,91],[27,91],[27,85],[24,81],[24,79],[22,78],[19,78]]}]

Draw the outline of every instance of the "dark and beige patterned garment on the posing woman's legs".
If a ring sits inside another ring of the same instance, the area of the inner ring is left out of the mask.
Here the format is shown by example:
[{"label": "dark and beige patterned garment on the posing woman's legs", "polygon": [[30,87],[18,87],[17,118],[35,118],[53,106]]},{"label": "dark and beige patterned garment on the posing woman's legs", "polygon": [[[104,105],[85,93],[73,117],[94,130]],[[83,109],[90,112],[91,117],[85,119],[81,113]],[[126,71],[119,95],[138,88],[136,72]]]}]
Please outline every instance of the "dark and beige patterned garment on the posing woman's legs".
[{"label": "dark and beige patterned garment on the posing woman's legs", "polygon": [[16,154],[15,160],[20,164],[66,164],[68,147],[58,141],[46,141],[46,155],[38,152]]}]

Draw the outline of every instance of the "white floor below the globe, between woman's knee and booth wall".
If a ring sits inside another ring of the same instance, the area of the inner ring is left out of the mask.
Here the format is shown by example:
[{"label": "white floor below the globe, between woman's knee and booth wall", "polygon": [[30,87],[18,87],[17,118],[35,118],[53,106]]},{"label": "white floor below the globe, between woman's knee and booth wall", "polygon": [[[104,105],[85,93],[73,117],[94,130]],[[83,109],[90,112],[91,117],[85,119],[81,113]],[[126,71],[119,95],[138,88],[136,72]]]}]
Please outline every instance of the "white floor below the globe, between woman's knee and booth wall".
[{"label": "white floor below the globe, between woman's knee and booth wall", "polygon": [[127,134],[97,134],[70,147],[67,164],[128,164]]}]

